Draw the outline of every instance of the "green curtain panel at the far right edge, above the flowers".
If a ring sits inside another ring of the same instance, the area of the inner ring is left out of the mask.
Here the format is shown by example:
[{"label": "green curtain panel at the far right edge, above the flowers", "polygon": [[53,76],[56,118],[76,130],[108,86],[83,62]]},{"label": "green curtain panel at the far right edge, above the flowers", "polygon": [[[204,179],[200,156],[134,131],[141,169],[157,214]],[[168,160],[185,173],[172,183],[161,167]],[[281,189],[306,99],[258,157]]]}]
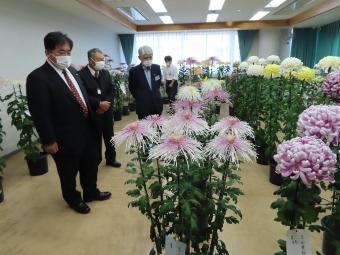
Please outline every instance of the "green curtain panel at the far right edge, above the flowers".
[{"label": "green curtain panel at the far right edge, above the flowers", "polygon": [[340,56],[340,21],[318,29],[316,62],[326,56]]}]

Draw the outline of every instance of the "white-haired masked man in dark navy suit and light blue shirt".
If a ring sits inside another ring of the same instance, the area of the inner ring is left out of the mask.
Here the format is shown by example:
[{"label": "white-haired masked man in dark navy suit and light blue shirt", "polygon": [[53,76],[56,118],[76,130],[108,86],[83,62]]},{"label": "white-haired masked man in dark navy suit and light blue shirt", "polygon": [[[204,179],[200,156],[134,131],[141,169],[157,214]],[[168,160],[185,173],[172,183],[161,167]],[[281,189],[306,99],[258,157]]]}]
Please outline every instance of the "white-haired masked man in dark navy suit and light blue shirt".
[{"label": "white-haired masked man in dark navy suit and light blue shirt", "polygon": [[143,119],[148,115],[162,114],[162,74],[160,66],[152,64],[153,51],[149,46],[138,49],[138,58],[140,65],[129,72],[129,90],[136,100],[138,118]]}]

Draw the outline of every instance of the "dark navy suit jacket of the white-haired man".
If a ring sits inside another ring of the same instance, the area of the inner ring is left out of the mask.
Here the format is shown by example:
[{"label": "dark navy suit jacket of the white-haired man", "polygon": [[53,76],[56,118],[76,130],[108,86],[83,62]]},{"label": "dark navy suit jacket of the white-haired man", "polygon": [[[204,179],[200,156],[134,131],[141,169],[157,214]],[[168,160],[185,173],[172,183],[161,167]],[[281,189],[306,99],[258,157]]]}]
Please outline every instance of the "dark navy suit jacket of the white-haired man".
[{"label": "dark navy suit jacket of the white-haired man", "polygon": [[136,100],[136,112],[140,119],[151,114],[162,113],[161,80],[162,74],[159,65],[151,66],[152,90],[149,87],[142,64],[130,70],[129,90]]}]

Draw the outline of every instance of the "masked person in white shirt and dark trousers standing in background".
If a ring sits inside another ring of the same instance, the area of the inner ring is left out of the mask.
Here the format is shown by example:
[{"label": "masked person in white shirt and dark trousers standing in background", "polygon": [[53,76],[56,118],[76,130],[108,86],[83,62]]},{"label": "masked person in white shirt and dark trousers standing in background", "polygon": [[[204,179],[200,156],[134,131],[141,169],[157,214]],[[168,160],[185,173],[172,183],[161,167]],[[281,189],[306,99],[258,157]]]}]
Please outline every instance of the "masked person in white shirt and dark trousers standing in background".
[{"label": "masked person in white shirt and dark trousers standing in background", "polygon": [[178,89],[178,69],[175,65],[172,64],[172,57],[166,56],[164,58],[165,61],[165,68],[163,70],[163,77],[165,81],[165,88],[166,93],[168,94],[169,98],[169,113],[174,113],[173,110],[173,102],[175,101],[175,97],[177,95],[177,89]]}]

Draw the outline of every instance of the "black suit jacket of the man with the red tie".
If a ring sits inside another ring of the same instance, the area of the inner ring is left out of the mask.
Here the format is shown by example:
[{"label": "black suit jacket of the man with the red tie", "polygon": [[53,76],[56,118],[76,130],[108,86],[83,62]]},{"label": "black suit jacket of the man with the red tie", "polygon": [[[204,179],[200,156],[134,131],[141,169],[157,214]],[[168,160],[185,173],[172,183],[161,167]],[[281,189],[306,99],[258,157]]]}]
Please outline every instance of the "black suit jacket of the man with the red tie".
[{"label": "black suit jacket of the man with the red tie", "polygon": [[79,155],[88,139],[99,136],[99,130],[80,77],[75,69],[69,68],[69,71],[82,91],[89,110],[87,118],[64,80],[47,62],[28,75],[26,92],[41,143],[57,142],[58,153]]}]

